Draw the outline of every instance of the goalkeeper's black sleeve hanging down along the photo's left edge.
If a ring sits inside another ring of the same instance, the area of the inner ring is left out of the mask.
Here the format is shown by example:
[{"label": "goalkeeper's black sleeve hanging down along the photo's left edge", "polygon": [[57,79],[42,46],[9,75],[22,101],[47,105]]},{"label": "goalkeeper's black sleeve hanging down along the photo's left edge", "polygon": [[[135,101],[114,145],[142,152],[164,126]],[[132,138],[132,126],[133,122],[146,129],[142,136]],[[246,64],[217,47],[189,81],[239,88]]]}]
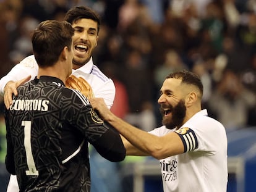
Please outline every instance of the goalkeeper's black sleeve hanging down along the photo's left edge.
[{"label": "goalkeeper's black sleeve hanging down along the photo's left edge", "polygon": [[4,110],[5,120],[6,120],[6,142],[7,142],[7,152],[6,152],[6,170],[12,175],[15,173],[14,164],[14,149],[11,140],[11,130],[9,128],[9,115],[7,109]]}]

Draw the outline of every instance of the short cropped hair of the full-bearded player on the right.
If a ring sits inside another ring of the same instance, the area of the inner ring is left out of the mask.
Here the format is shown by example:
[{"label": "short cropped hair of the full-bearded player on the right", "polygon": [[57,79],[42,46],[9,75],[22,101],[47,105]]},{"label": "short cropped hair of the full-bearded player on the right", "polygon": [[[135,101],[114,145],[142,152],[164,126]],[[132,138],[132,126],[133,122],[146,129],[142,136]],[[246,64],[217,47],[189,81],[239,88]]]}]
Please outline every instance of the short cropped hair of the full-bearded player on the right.
[{"label": "short cropped hair of the full-bearded player on the right", "polygon": [[188,70],[182,70],[179,72],[170,73],[166,78],[176,78],[180,79],[181,83],[186,83],[187,85],[194,85],[200,91],[201,96],[203,96],[203,84],[197,74],[189,72]]}]

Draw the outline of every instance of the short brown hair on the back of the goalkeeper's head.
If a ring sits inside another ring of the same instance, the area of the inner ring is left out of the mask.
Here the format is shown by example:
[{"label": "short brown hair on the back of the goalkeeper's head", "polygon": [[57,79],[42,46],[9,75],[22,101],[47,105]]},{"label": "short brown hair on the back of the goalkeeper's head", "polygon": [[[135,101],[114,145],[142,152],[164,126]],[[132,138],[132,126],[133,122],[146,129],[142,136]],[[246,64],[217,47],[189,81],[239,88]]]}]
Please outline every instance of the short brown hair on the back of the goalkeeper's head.
[{"label": "short brown hair on the back of the goalkeeper's head", "polygon": [[46,20],[33,31],[32,46],[36,62],[48,67],[58,61],[61,51],[72,49],[74,28],[66,21]]}]

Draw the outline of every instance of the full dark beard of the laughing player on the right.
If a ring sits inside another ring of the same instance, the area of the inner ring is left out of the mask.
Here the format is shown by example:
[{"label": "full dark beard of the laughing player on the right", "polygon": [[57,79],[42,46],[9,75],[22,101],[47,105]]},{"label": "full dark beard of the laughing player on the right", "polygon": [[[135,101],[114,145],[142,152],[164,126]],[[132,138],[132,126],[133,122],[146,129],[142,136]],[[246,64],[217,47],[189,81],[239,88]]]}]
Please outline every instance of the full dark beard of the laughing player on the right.
[{"label": "full dark beard of the laughing player on the right", "polygon": [[[167,106],[164,106],[167,107]],[[176,106],[168,106],[171,111],[171,116],[168,117],[164,117],[164,108],[162,105],[160,107],[160,112],[163,115],[163,120],[162,123],[163,125],[166,126],[166,128],[168,129],[173,129],[173,128],[179,128],[181,127],[185,116],[186,116],[186,106],[185,106],[185,102],[183,99],[181,99]]]}]

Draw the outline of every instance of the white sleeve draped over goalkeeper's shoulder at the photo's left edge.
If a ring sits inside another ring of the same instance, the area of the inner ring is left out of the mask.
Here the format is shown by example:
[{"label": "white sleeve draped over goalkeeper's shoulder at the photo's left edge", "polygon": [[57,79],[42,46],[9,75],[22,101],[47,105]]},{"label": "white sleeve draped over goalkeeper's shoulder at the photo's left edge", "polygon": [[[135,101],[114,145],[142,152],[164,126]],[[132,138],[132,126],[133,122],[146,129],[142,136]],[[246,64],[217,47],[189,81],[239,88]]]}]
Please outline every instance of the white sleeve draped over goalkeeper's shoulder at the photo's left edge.
[{"label": "white sleeve draped over goalkeeper's shoulder at the photo's left edge", "polygon": [[[4,86],[9,81],[18,81],[22,78],[31,75],[31,79],[35,78],[38,74],[38,65],[35,61],[35,57],[28,56],[23,59],[19,64],[12,67],[11,71],[7,73],[6,76],[2,77],[0,80],[0,95],[4,95]],[[30,80],[31,80],[30,79]]]}]

